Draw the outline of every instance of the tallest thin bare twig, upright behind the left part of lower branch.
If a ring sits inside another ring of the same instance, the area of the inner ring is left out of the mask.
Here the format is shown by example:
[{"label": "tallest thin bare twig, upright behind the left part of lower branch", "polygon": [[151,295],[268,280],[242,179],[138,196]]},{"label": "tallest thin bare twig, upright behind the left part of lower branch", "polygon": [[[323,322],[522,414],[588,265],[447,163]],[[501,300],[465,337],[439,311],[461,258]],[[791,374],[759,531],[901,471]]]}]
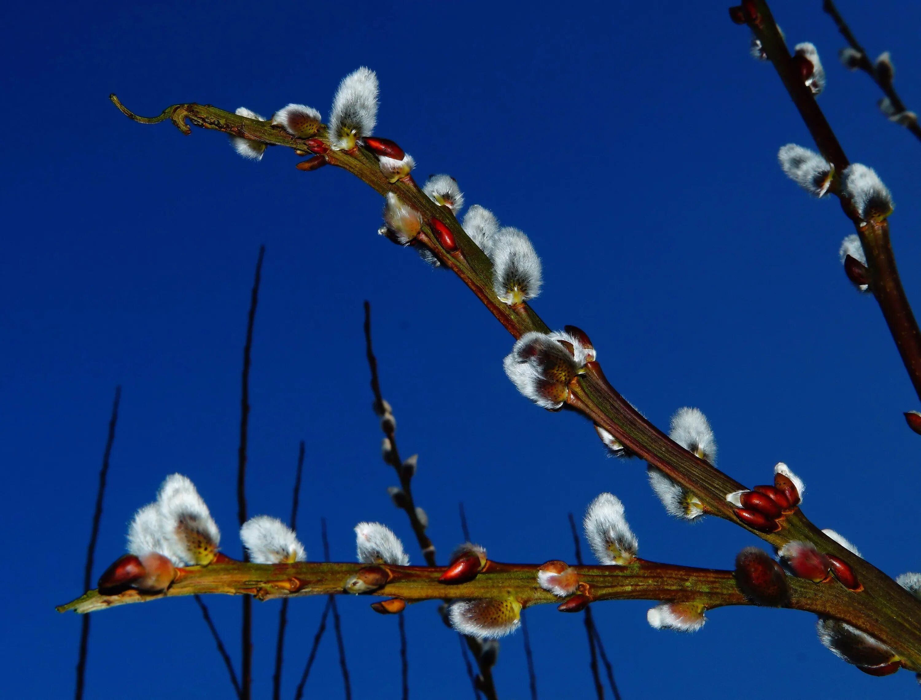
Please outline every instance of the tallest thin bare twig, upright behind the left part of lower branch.
[{"label": "tallest thin bare twig, upright behind the left part of lower branch", "polygon": [[[243,372],[240,383],[239,414],[239,448],[237,449],[237,517],[242,527],[246,522],[246,449],[250,426],[250,364],[252,353],[252,327],[256,321],[256,305],[259,303],[259,283],[262,277],[262,258],[265,246],[259,247],[259,259],[256,261],[256,275],[252,282],[250,296],[250,313],[246,323],[246,344],[243,345]],[[244,550],[243,561],[249,561],[249,554]],[[252,692],[252,598],[243,596],[243,624],[241,625],[242,646],[242,700],[250,700]]]}]

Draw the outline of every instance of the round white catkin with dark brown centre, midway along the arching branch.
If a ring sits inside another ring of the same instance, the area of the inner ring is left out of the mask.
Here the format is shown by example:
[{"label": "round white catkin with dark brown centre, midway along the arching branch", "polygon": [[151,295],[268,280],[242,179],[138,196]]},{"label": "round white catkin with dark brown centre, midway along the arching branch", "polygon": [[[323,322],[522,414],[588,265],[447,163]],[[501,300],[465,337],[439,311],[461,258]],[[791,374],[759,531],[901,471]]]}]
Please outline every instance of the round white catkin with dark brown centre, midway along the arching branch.
[{"label": "round white catkin with dark brown centre, midway along the arching branch", "polygon": [[563,345],[546,333],[536,331],[527,332],[518,339],[502,361],[502,367],[524,396],[552,411],[562,406],[565,399],[559,399],[560,391],[548,391],[548,388],[562,390],[563,387],[556,376],[548,376],[547,367],[571,377],[578,371],[576,359]]}]

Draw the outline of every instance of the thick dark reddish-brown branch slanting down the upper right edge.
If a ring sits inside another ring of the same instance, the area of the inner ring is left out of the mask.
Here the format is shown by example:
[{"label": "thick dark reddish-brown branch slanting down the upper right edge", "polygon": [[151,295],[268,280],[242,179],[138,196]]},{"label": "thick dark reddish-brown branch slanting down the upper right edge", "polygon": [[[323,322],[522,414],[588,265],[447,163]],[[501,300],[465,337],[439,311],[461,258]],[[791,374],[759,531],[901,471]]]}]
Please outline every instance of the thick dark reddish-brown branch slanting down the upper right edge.
[{"label": "thick dark reddish-brown branch slanting down the upper right edge", "polygon": [[[835,178],[838,178],[850,165],[845,150],[838,143],[812,90],[803,82],[799,69],[787,50],[787,43],[777,29],[770,7],[764,0],[756,0],[755,5],[763,21],[752,22],[752,31],[762,41],[768,60],[774,64],[816,146],[822,151],[822,156],[834,165]],[[841,207],[857,229],[857,235],[867,255],[869,289],[876,297],[883,318],[892,332],[892,339],[902,356],[905,369],[908,370],[915,393],[921,398],[921,331],[918,330],[915,314],[908,303],[908,297],[905,296],[902,280],[895,266],[895,254],[889,238],[889,221],[863,222],[853,206],[844,198],[840,199]]]}]

